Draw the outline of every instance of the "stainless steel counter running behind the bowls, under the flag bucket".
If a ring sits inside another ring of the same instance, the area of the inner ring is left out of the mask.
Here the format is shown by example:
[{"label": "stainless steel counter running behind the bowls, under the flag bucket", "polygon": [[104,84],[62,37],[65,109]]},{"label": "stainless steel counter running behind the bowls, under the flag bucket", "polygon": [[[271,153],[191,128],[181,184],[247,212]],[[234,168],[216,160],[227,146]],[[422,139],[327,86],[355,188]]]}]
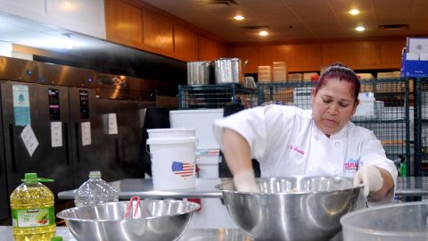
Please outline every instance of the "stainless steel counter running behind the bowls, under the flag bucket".
[{"label": "stainless steel counter running behind the bowls, under the flag bucket", "polygon": [[[153,189],[152,179],[123,179],[111,182],[119,191],[120,199],[128,199],[133,195],[142,198],[219,198],[221,192],[216,185],[231,179],[196,179],[196,187],[175,191],[159,191]],[[64,191],[58,194],[61,199],[74,199],[76,190]],[[397,196],[428,195],[428,177],[399,177],[397,180]]]}]

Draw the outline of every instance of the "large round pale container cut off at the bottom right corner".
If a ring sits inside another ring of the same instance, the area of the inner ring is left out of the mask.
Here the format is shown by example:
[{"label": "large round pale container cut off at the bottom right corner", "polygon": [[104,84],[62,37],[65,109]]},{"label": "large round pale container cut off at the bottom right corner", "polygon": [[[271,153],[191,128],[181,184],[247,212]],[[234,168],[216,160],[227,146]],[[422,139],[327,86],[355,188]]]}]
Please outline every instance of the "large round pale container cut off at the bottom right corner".
[{"label": "large round pale container cut off at the bottom right corner", "polygon": [[344,215],[341,223],[345,241],[426,241],[428,203],[374,206]]}]

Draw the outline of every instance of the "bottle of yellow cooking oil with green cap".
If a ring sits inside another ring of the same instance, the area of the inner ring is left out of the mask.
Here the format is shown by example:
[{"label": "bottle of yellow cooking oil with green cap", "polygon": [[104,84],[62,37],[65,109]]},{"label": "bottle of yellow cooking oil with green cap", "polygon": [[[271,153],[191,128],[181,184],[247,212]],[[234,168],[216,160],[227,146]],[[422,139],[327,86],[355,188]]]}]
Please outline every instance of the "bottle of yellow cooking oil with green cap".
[{"label": "bottle of yellow cooking oil with green cap", "polygon": [[13,237],[15,241],[50,241],[55,235],[53,193],[40,182],[53,179],[25,173],[21,181],[11,195]]}]

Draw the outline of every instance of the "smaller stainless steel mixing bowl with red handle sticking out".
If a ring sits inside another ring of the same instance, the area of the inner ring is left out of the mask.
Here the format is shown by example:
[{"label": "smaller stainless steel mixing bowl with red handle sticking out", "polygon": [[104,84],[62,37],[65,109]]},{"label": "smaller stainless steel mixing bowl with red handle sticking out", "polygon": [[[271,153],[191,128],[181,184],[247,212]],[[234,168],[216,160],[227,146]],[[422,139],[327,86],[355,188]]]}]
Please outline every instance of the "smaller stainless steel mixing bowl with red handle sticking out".
[{"label": "smaller stainless steel mixing bowl with red handle sticking out", "polygon": [[76,207],[57,213],[78,240],[175,240],[189,224],[199,204],[177,200],[144,200],[141,218],[124,219],[128,201]]}]

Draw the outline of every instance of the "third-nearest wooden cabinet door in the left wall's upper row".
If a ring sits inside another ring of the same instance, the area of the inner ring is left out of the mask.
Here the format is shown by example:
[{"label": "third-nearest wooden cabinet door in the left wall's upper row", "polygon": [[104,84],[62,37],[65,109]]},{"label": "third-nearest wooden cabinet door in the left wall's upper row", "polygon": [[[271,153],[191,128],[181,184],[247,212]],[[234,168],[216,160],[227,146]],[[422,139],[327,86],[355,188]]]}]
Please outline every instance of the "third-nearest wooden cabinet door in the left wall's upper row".
[{"label": "third-nearest wooden cabinet door in the left wall's upper row", "polygon": [[198,60],[198,35],[190,29],[174,26],[174,52],[186,62]]}]

